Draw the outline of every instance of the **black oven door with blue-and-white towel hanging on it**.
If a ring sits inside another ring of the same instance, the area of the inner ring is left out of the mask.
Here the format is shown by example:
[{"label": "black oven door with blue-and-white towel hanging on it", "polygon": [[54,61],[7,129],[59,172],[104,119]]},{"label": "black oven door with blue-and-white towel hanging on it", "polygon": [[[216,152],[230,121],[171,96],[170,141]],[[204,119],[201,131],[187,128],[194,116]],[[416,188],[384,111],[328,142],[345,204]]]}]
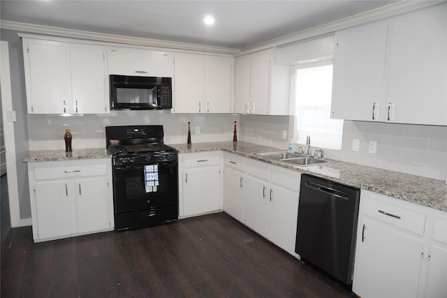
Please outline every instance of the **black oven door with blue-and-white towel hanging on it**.
[{"label": "black oven door with blue-and-white towel hanging on it", "polygon": [[178,205],[178,165],[169,161],[113,168],[115,214]]}]

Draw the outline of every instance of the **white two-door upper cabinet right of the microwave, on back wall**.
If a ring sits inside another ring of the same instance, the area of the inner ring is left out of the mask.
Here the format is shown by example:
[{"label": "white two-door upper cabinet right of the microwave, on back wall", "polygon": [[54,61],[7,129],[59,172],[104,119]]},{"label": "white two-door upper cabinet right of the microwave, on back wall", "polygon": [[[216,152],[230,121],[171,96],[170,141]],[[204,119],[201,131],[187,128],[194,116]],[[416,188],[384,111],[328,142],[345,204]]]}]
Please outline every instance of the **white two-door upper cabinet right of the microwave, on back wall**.
[{"label": "white two-door upper cabinet right of the microwave, on back wall", "polygon": [[233,58],[175,54],[177,113],[228,113],[233,99]]}]

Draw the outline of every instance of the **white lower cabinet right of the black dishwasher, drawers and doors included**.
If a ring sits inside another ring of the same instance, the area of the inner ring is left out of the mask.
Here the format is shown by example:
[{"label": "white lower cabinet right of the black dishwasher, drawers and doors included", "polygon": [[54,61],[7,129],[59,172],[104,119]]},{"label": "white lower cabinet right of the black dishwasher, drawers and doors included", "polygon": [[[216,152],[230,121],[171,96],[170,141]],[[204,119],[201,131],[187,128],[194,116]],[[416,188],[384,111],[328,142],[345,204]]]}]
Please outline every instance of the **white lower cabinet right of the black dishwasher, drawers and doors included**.
[{"label": "white lower cabinet right of the black dishwasher, drawers and doors included", "polygon": [[[362,190],[353,292],[365,298],[445,297],[447,241],[432,239],[437,231],[434,213]],[[445,212],[439,214],[447,218]],[[447,235],[447,225],[441,220],[437,224],[440,234]]]}]

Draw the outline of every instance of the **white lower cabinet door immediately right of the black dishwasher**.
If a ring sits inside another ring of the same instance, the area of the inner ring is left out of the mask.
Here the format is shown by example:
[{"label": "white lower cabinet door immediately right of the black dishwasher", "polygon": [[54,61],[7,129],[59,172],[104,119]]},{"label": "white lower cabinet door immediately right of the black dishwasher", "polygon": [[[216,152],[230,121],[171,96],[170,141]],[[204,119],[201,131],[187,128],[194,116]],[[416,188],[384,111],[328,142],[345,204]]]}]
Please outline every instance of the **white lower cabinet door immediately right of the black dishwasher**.
[{"label": "white lower cabinet door immediately right of the black dishwasher", "polygon": [[423,241],[359,218],[353,292],[361,297],[416,297]]}]

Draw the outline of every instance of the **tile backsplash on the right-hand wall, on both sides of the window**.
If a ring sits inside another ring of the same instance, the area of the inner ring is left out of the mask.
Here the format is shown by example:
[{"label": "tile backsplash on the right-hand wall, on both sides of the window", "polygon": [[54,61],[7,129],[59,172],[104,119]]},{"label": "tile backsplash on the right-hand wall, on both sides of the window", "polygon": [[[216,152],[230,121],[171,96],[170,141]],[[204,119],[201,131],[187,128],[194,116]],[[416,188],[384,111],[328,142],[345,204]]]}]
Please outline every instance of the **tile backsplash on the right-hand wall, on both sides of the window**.
[{"label": "tile backsplash on the right-hand wall, on both sides of the window", "polygon": [[[293,131],[293,117],[241,115],[240,122],[241,140],[287,149],[290,134],[282,140],[281,131]],[[359,152],[352,151],[353,139],[360,140]],[[368,152],[370,141],[377,142],[376,154]],[[345,120],[342,150],[325,150],[325,157],[445,181],[447,126]]]}]

